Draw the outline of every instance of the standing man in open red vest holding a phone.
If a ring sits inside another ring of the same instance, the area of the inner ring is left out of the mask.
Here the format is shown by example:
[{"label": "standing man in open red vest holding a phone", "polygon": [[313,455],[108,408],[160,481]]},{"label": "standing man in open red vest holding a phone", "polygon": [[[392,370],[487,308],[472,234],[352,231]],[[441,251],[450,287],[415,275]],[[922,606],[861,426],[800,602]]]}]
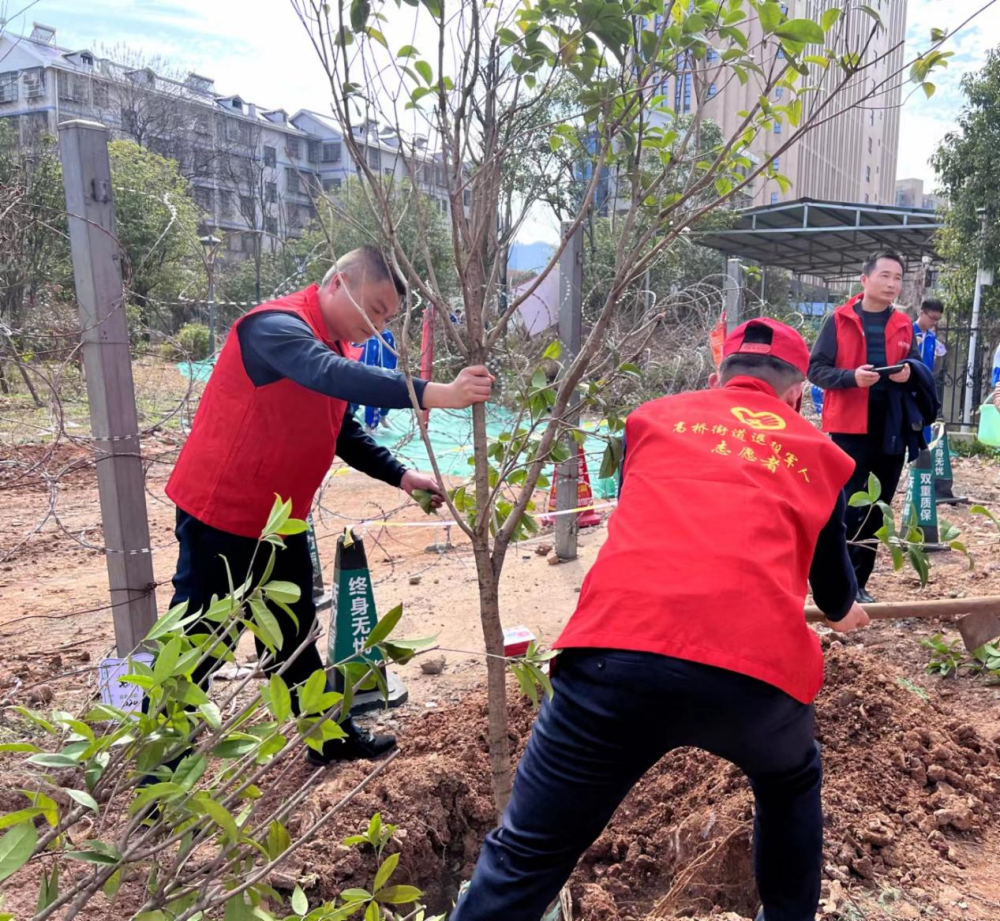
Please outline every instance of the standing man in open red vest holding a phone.
[{"label": "standing man in open red vest holding a phone", "polygon": [[[874,473],[881,499],[889,503],[907,453],[912,460],[927,446],[923,427],[938,411],[937,387],[933,373],[920,361],[913,321],[893,306],[904,269],[895,253],[872,256],[862,271],[862,293],[823,324],[809,363],[809,380],[826,391],[823,431],[854,459],[847,495],[867,491],[868,476]],[[870,512],[867,507],[848,508],[846,515],[858,601],[863,604],[874,600],[867,585],[875,568],[875,532],[882,527],[882,516]]]}]

